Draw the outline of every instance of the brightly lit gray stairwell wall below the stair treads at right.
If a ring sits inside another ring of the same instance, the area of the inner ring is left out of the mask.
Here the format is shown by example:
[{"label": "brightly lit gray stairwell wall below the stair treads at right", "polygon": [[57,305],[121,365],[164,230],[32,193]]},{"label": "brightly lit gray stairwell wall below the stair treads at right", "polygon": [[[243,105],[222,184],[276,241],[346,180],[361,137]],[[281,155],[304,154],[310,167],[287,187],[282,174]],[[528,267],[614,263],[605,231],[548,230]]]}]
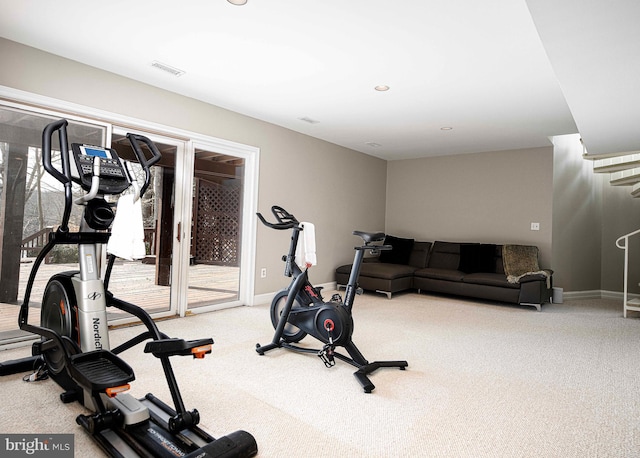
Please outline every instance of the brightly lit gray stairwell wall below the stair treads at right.
[{"label": "brightly lit gray stairwell wall below the stair treads at right", "polygon": [[[620,292],[624,251],[615,242],[640,228],[640,200],[630,196],[631,187],[611,186],[609,174],[593,172],[578,134],[553,143],[554,283],[565,291]],[[639,293],[640,236],[630,239],[629,250],[629,291]]]}]

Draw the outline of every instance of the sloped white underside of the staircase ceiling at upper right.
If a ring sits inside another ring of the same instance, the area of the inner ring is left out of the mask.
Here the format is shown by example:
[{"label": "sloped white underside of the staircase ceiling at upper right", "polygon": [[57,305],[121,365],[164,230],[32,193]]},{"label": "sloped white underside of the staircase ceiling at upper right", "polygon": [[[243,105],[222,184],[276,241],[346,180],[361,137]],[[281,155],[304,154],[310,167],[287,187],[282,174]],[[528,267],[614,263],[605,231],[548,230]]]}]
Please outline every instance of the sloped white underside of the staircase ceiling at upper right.
[{"label": "sloped white underside of the staircase ceiling at upper right", "polygon": [[527,4],[588,153],[640,150],[640,1]]}]

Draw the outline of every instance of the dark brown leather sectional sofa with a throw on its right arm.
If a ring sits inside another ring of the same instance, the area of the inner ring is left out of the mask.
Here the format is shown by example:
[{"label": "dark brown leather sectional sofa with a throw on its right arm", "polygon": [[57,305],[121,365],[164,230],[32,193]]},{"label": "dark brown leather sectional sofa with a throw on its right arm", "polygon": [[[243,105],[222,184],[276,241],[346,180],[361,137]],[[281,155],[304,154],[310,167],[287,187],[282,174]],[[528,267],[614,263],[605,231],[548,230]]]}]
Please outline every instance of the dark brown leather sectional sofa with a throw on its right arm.
[{"label": "dark brown leather sectional sofa with a throw on its right arm", "polygon": [[[418,242],[387,236],[390,251],[366,258],[358,284],[362,289],[392,294],[405,290],[455,294],[536,307],[551,302],[551,270],[538,267],[536,247]],[[506,253],[507,259],[503,259]],[[505,267],[507,271],[505,272]],[[336,269],[338,286],[346,285],[351,265]]]}]

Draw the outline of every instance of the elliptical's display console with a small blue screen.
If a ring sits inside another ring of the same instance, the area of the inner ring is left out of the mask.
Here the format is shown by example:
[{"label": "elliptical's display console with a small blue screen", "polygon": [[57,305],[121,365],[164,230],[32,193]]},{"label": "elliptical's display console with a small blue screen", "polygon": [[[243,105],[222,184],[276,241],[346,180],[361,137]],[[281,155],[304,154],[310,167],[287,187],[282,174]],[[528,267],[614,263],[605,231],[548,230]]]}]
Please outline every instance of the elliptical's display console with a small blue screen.
[{"label": "elliptical's display console with a small blue screen", "polygon": [[71,179],[85,191],[91,190],[96,168],[100,177],[100,194],[120,194],[131,185],[122,161],[113,148],[72,143],[71,150],[75,160],[75,167],[70,167]]}]

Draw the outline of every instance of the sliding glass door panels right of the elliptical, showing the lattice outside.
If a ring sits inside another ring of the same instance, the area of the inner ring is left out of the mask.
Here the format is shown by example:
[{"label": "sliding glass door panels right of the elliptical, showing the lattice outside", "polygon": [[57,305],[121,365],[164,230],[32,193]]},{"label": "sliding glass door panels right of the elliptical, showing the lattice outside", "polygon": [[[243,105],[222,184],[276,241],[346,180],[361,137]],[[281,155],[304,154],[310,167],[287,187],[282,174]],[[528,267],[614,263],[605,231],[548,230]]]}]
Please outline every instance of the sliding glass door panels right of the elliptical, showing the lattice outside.
[{"label": "sliding glass door panels right of the elliptical, showing the lattice outside", "polygon": [[[110,289],[162,315],[241,305],[245,159],[215,145],[137,133],[162,153],[143,202],[147,256],[118,261]],[[119,151],[124,134],[114,128]]]}]

